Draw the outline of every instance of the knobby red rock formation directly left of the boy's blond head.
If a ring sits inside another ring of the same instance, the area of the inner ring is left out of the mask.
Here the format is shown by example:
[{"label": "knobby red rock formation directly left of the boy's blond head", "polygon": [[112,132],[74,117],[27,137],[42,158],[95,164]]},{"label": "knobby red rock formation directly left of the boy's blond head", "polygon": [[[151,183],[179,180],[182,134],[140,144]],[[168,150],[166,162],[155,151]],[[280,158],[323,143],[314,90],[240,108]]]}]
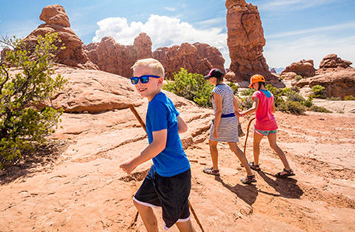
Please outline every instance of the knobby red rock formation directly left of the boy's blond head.
[{"label": "knobby red rock formation directly left of the boy's blond head", "polygon": [[121,45],[112,37],[102,38],[100,43],[89,43],[85,46],[89,59],[100,70],[131,77],[134,62],[138,59],[153,57],[151,38],[146,33],[140,33],[133,45]]}]

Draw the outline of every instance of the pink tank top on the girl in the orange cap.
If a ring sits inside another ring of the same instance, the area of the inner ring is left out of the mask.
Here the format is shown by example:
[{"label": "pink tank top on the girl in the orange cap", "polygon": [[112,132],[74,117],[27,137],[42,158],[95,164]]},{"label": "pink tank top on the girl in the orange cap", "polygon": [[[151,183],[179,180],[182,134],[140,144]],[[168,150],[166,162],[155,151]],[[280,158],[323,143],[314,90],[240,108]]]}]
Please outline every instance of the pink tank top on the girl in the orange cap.
[{"label": "pink tank top on the girl in the orange cap", "polygon": [[[273,94],[269,91],[259,90],[254,92],[252,98],[257,97],[259,99],[258,109],[256,109],[256,123],[255,128],[261,131],[273,131],[278,128],[275,116],[271,112],[273,106]],[[269,95],[266,96],[266,95]]]}]

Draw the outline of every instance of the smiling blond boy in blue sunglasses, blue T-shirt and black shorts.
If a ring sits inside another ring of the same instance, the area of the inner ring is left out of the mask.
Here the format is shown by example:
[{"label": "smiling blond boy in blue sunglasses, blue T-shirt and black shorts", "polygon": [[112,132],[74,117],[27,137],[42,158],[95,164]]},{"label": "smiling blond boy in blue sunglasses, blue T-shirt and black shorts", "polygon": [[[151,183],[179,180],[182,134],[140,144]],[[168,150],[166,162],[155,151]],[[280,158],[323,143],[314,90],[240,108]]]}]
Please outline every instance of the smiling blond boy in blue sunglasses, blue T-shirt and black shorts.
[{"label": "smiling blond boy in blue sunglasses, blue T-shirt and black shorts", "polygon": [[179,231],[195,232],[188,204],[190,162],[178,134],[187,131],[187,125],[173,101],[160,92],[164,79],[163,65],[158,60],[148,58],[138,60],[132,69],[132,84],[149,101],[146,115],[149,145],[140,155],[120,167],[130,174],[138,165],[153,159],[151,170],[133,197],[133,204],[148,232],[158,231],[157,219],[151,209],[156,206],[162,207],[165,229],[176,223]]}]

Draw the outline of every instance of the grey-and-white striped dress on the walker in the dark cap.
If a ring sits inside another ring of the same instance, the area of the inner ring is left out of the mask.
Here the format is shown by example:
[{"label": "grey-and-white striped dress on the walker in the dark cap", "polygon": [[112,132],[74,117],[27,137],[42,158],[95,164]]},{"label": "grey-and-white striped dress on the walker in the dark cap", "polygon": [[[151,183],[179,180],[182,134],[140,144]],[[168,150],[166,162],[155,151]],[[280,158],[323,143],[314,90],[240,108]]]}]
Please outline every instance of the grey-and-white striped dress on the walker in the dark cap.
[{"label": "grey-and-white striped dress on the walker in the dark cap", "polygon": [[[222,96],[222,115],[234,114],[233,105],[233,90],[226,84],[217,84],[212,90],[212,93],[216,93]],[[212,106],[214,115],[216,115],[216,103],[212,94]],[[239,142],[238,138],[238,118],[236,116],[221,118],[219,126],[217,128],[218,138],[213,137],[214,131],[214,119],[212,121],[211,130],[209,132],[209,139],[217,142]]]}]

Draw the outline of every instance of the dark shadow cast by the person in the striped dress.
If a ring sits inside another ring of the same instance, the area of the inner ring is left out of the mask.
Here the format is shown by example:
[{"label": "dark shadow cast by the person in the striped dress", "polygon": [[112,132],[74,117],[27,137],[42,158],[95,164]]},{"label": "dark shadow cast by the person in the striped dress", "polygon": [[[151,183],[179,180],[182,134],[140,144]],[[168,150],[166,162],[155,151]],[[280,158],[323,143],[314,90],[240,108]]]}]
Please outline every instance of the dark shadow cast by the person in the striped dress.
[{"label": "dark shadow cast by the person in the striped dress", "polygon": [[255,185],[236,184],[235,186],[231,186],[229,184],[226,184],[223,179],[221,179],[221,177],[215,177],[215,179],[218,182],[221,182],[221,184],[227,189],[229,189],[229,191],[234,192],[234,194],[236,194],[237,197],[246,202],[246,204],[249,204],[251,206],[256,201],[258,191],[256,190]]}]

